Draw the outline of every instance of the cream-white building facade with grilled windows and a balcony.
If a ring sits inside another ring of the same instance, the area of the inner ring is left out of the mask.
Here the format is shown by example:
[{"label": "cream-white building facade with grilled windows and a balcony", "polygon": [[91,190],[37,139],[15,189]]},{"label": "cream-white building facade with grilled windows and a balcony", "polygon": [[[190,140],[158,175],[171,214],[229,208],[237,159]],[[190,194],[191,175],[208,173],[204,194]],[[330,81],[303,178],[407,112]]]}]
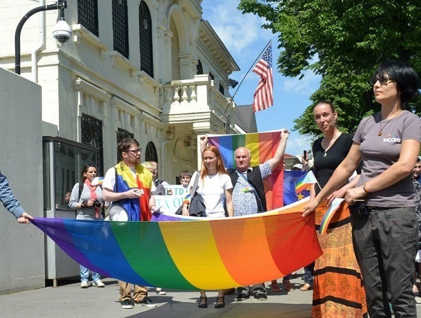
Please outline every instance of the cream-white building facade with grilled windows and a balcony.
[{"label": "cream-white building facade with grilled windows and a balcony", "polygon": [[[14,71],[19,20],[51,3],[0,1],[1,68]],[[197,135],[239,133],[228,92],[228,77],[239,68],[202,19],[201,3],[68,0],[72,37],[65,46],[52,37],[59,10],[26,21],[21,75],[42,88],[44,216],[74,217],[55,206],[84,164],[95,162],[99,174],[114,166],[123,138],[136,138],[142,160],[158,162],[159,177],[176,183],[180,171],[200,163]],[[47,270],[46,278],[66,275]]]}]

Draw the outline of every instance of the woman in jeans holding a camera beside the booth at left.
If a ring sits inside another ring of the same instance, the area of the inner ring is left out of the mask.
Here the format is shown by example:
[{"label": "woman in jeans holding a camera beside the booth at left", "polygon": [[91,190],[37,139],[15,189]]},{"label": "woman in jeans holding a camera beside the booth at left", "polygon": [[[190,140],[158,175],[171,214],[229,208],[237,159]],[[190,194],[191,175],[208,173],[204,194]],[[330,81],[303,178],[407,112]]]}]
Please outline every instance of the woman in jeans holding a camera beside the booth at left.
[{"label": "woman in jeans holding a camera beside the booth at left", "polygon": [[[108,207],[108,203],[102,200],[102,189],[98,185],[92,185],[92,178],[97,176],[95,165],[86,165],[81,173],[83,187],[77,183],[70,194],[69,207],[76,209],[77,220],[101,220],[101,210]],[[81,190],[81,191],[80,191]],[[89,270],[80,265],[81,288],[88,288]],[[92,272],[92,286],[104,287],[99,274]]]}]

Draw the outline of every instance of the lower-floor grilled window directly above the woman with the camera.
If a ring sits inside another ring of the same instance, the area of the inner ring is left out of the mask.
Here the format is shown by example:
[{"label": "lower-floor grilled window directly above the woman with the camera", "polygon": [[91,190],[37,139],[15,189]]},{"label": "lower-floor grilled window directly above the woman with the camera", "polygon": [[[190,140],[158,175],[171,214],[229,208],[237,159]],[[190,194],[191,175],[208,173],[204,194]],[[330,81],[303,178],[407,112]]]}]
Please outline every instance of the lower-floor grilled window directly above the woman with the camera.
[{"label": "lower-floor grilled window directly above the woman with the camera", "polygon": [[81,141],[97,149],[97,174],[104,176],[104,151],[102,144],[102,120],[90,115],[82,114],[81,118]]}]

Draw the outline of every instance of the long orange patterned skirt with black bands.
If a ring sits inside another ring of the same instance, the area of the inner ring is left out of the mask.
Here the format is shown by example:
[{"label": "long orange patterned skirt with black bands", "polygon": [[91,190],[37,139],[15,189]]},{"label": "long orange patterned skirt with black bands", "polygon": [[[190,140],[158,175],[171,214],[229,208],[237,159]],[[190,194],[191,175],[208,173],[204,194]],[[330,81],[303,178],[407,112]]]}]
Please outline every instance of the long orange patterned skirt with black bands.
[{"label": "long orange patterned skirt with black bands", "polygon": [[353,250],[349,209],[343,203],[326,234],[318,234],[327,211],[323,202],[315,211],[317,238],[323,254],[315,261],[312,317],[367,317],[360,267]]}]

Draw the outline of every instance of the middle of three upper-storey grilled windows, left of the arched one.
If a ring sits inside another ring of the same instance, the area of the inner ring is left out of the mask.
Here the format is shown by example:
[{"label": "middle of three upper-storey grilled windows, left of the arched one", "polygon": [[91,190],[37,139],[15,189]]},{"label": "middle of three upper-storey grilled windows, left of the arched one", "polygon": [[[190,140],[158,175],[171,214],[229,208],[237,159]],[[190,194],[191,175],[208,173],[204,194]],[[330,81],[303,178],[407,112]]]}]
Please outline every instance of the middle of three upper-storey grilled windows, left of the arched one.
[{"label": "middle of three upper-storey grilled windows, left of the arched one", "polygon": [[114,50],[128,58],[127,0],[112,0],[112,35]]}]

